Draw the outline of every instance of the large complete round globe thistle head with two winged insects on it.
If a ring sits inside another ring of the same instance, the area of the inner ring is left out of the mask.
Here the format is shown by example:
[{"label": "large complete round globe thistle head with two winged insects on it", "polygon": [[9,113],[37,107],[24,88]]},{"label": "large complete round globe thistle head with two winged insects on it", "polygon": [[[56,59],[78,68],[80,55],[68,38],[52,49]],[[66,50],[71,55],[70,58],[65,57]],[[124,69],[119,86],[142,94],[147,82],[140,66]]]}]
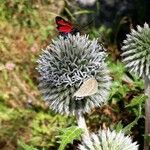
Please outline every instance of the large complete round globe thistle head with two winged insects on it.
[{"label": "large complete round globe thistle head with two winged insects on it", "polygon": [[[38,59],[37,68],[39,88],[50,108],[61,114],[75,115],[104,104],[111,83],[105,57],[97,40],[89,40],[87,35],[69,34],[53,40]],[[92,77],[98,82],[98,92],[75,97],[83,82]]]}]

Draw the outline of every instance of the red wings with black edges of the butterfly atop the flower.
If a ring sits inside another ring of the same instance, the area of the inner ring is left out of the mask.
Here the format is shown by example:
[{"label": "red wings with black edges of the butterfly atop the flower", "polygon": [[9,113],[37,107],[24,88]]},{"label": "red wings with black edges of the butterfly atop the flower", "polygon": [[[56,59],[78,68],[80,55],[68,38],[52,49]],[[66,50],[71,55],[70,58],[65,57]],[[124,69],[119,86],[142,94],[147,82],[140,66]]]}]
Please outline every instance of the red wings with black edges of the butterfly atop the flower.
[{"label": "red wings with black edges of the butterfly atop the flower", "polygon": [[60,33],[71,33],[74,29],[73,24],[69,21],[66,21],[65,19],[57,16],[55,18],[56,24],[57,24],[57,29]]}]

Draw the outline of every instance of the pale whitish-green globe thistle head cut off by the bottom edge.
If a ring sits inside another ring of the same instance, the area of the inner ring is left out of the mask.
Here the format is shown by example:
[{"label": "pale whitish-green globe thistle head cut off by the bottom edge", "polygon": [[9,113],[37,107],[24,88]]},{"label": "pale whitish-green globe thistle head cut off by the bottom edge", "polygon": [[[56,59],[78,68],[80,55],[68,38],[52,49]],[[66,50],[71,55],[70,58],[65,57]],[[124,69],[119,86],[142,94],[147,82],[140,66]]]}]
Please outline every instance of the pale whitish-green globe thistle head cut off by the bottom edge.
[{"label": "pale whitish-green globe thistle head cut off by the bottom edge", "polygon": [[131,137],[125,136],[122,132],[100,130],[98,134],[92,133],[90,140],[84,137],[79,150],[138,150],[136,142]]}]

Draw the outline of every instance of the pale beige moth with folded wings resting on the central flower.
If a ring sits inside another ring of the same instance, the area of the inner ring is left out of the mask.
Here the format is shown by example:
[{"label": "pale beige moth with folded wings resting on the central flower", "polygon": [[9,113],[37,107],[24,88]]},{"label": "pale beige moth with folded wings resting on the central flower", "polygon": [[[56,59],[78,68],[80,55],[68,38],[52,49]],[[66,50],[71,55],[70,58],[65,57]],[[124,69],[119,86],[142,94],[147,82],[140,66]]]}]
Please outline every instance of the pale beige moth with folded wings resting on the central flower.
[{"label": "pale beige moth with folded wings resting on the central flower", "polygon": [[75,97],[91,96],[98,91],[98,83],[95,78],[89,78],[74,93]]}]

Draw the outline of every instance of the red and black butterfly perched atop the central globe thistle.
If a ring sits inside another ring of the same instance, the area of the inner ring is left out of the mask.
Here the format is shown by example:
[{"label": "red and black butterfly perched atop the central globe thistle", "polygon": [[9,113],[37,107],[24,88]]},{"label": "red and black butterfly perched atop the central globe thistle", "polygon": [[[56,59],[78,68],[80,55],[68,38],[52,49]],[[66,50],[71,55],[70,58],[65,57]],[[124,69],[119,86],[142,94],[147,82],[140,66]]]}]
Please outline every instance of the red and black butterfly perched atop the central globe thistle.
[{"label": "red and black butterfly perched atop the central globe thistle", "polygon": [[79,32],[78,28],[75,28],[71,22],[66,21],[62,17],[57,16],[55,20],[57,24],[57,29],[62,36],[67,36],[68,33],[76,34],[77,32]]}]

